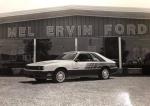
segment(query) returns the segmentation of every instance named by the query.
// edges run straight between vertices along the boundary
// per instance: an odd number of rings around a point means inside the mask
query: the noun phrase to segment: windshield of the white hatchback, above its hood
[[[56,60],[73,60],[76,56],[76,53],[64,53],[56,57]]]

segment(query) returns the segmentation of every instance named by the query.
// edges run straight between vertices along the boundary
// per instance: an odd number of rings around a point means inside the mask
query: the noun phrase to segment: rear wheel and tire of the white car
[[[101,71],[98,74],[99,79],[109,79],[110,77],[110,73],[109,73],[109,69],[108,68],[102,68]]]

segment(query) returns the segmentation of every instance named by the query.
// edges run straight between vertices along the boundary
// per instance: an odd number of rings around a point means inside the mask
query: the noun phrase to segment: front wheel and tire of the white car
[[[65,81],[66,79],[66,72],[64,69],[58,69],[55,71],[53,77],[52,77],[53,81],[55,83],[62,83]]]

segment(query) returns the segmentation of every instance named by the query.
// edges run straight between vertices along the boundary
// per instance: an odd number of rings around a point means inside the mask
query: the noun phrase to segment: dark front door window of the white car
[[[89,53],[82,53],[79,54],[79,56],[77,57],[78,61],[93,61],[92,56]]]

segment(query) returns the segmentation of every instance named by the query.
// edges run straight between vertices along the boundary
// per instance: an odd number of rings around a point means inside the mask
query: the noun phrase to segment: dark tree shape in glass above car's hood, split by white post
[[[33,39],[24,40],[25,53],[33,57]],[[48,60],[48,51],[52,47],[51,39],[37,39],[36,41],[36,60],[43,61]]]

